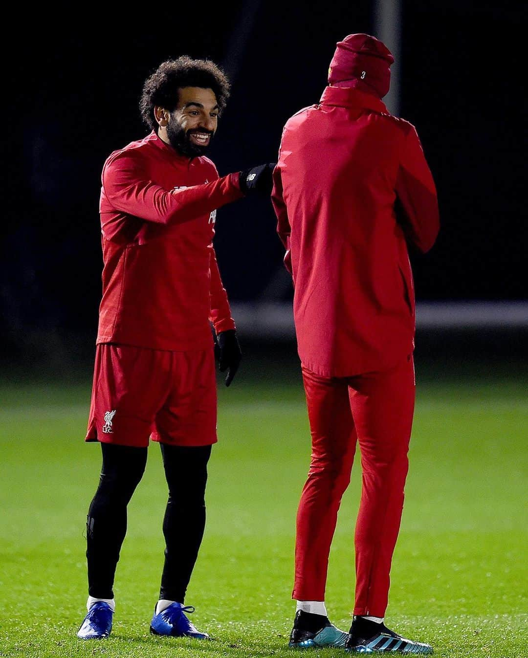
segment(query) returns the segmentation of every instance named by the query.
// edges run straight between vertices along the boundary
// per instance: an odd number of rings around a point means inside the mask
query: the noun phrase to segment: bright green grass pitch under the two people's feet
[[[528,655],[528,401],[521,380],[421,384],[386,620],[438,657]],[[294,519],[309,460],[300,378],[220,389],[207,528],[186,603],[216,642],[156,638],[166,487],[157,445],[129,509],[117,613],[103,642],[85,612],[84,523],[99,448],[82,442],[88,386],[0,388],[0,656],[292,656]],[[330,554],[327,606],[350,624],[359,464]],[[185,498],[185,492],[182,492]],[[182,528],[182,541],[184,541]],[[342,656],[338,649],[317,655]]]

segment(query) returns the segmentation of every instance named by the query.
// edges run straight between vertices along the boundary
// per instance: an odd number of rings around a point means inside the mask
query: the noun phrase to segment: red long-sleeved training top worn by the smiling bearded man
[[[213,235],[216,209],[242,197],[238,174],[219,178],[154,132],[115,151],[101,190],[103,299],[97,343],[184,351],[234,328]]]

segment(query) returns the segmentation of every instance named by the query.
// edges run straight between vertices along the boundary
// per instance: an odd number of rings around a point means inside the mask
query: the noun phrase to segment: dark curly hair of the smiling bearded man
[[[229,97],[230,84],[223,70],[209,59],[191,59],[187,55],[168,59],[145,80],[143,86],[140,112],[148,128],[157,132],[159,126],[154,107],[174,111],[178,105],[178,89],[182,87],[213,89],[222,111]]]

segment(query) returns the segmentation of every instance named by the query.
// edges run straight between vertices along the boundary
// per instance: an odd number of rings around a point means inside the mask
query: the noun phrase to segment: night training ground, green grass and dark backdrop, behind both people
[[[384,103],[416,126],[440,204],[435,246],[410,254],[417,405],[386,623],[432,644],[435,658],[528,658],[521,3],[195,5],[117,13],[83,5],[81,20],[48,5],[9,5],[17,48],[3,75],[0,658],[297,658],[287,643],[310,438],[292,281],[272,204],[256,197],[220,207],[215,223],[244,359],[229,390],[219,378],[207,526],[185,603],[216,641],[149,634],[167,499],[157,445],[129,507],[113,632],[102,642],[76,638],[86,613],[86,513],[101,465],[99,446],[83,441],[101,301],[97,200],[109,153],[145,134],[138,100],[163,61],[205,57],[225,70],[232,94],[208,153],[223,176],[276,161],[286,120],[318,103],[348,34],[376,36],[394,55]],[[321,159],[317,170],[330,164]],[[344,211],[354,221],[355,205]],[[326,596],[344,630],[360,487],[357,455]]]

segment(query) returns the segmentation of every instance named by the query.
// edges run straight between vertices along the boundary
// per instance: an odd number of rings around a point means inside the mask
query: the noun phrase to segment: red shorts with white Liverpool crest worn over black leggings
[[[86,441],[146,447],[217,442],[215,355],[103,343],[95,351]]]

